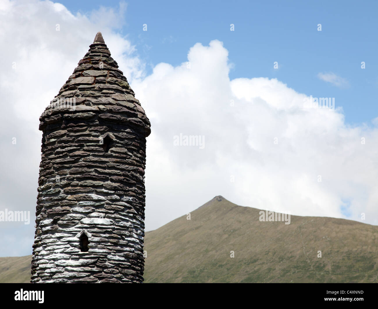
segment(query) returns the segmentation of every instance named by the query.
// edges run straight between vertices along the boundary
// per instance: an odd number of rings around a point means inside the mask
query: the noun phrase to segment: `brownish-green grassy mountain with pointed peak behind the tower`
[[[190,220],[146,232],[145,282],[378,283],[378,226],[293,215],[290,224],[259,221],[260,211],[215,196]],[[30,262],[0,258],[0,283],[29,282]]]

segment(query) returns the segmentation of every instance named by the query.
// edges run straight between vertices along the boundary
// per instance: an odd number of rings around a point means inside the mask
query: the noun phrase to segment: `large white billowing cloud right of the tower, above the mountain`
[[[310,98],[277,79],[229,80],[217,40],[197,43],[187,60],[160,63],[132,84],[152,122],[147,228],[215,195],[302,216],[360,220],[364,212],[364,222],[378,223],[376,129],[350,127],[341,108],[304,108]],[[204,136],[205,147],[175,146],[180,133]]]

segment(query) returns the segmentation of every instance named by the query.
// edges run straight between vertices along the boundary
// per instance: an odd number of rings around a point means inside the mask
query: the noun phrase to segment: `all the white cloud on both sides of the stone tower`
[[[363,222],[378,224],[377,127],[350,127],[342,110],[304,108],[306,94],[277,79],[230,80],[232,64],[218,40],[197,43],[181,65],[159,63],[146,76],[138,51],[111,26],[115,15],[123,18],[124,6],[121,15],[101,8],[100,24],[96,11],[73,15],[52,2],[0,3],[0,41],[6,46],[0,49],[0,209],[35,212],[38,118],[101,30],[152,123],[146,230],[215,195],[295,215],[359,221],[364,212]],[[204,137],[204,147],[175,145],[177,136]],[[3,223],[1,255],[30,254],[33,224]],[[25,241],[14,250],[17,239]]]

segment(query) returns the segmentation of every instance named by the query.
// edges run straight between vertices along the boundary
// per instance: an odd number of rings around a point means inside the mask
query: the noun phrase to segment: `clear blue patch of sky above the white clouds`
[[[61,3],[74,14],[104,5]],[[118,1],[106,6],[120,8]],[[234,64],[230,79],[277,78],[308,96],[335,97],[347,124],[369,124],[377,116],[376,12],[376,1],[131,1],[119,32],[136,46],[147,73],[160,62],[185,62],[195,43],[218,39]],[[231,23],[235,31],[230,31]],[[317,31],[319,23],[322,31]],[[318,73],[330,72],[345,85],[319,79]]]

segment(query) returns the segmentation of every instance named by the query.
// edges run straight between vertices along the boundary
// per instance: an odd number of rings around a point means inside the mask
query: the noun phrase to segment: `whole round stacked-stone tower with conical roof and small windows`
[[[32,283],[143,282],[150,122],[134,95],[99,32],[41,115]]]

